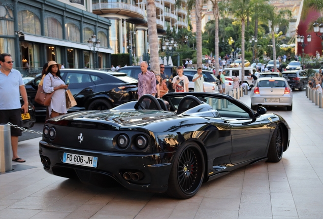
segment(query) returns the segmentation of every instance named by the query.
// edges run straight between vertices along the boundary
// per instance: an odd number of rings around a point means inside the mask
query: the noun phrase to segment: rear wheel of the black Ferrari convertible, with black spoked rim
[[[204,178],[204,156],[196,142],[184,143],[175,155],[166,194],[188,199],[201,188]]]

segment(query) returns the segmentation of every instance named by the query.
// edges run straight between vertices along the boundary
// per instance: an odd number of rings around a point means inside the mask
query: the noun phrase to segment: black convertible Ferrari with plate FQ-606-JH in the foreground
[[[261,160],[279,162],[290,128],[228,95],[144,95],[106,111],[47,120],[39,154],[54,175],[190,198],[202,182]],[[169,103],[169,106],[167,105]]]

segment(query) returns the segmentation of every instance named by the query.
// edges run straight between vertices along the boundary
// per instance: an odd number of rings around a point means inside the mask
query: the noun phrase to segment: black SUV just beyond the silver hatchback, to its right
[[[288,85],[294,91],[298,88],[299,91],[304,90],[308,83],[308,77],[304,70],[286,70],[282,72],[283,77],[287,80]]]

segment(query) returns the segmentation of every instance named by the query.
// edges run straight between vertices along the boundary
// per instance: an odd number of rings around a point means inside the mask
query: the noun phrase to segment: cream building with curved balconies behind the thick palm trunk
[[[186,1],[179,8],[175,2],[155,1],[159,37],[168,27],[187,28]],[[113,53],[131,53],[136,57],[149,53],[146,0],[92,0],[92,10],[111,22],[109,44]]]

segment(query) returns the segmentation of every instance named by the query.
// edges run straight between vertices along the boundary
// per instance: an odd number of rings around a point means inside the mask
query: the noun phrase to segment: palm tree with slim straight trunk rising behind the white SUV
[[[241,80],[244,81],[244,31],[245,21],[250,9],[250,0],[231,0],[227,7],[231,14],[241,20]]]

